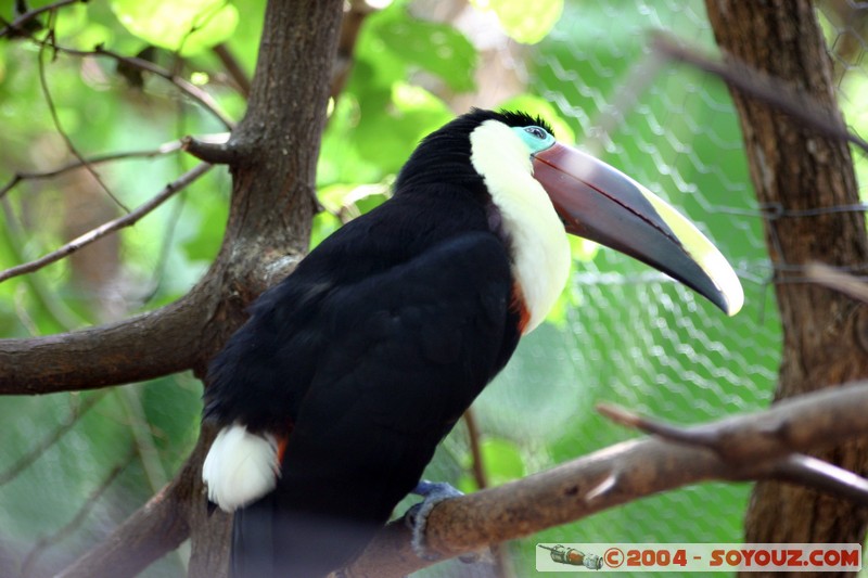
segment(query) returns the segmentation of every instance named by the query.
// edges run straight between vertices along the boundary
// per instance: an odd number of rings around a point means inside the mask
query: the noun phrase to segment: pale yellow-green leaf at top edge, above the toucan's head
[[[471,0],[477,10],[492,11],[503,31],[523,44],[535,44],[554,27],[563,12],[563,0],[537,0],[533,8],[524,0]]]

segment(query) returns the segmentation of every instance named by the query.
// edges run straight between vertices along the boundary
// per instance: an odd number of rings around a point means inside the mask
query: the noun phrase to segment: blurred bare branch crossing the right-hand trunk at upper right
[[[868,142],[848,131],[846,126],[838,121],[814,99],[799,93],[779,79],[761,74],[755,68],[736,61],[735,57],[730,57],[730,62],[724,63],[712,56],[703,55],[700,49],[681,46],[662,33],[652,36],[651,46],[655,51],[673,61],[689,64],[717,76],[727,85],[745,94],[774,105],[776,110],[802,120],[820,134],[850,142],[868,152]]]

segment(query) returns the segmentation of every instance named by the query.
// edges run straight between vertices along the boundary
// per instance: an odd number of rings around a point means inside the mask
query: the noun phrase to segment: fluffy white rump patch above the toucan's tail
[[[202,464],[208,500],[234,512],[275,489],[280,468],[273,436],[251,434],[241,424],[220,429]]]

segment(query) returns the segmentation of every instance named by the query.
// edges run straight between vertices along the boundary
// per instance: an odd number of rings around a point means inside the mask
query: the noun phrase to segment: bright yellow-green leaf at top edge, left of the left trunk
[[[239,21],[225,0],[112,0],[111,5],[131,34],[184,56],[229,39]]]

